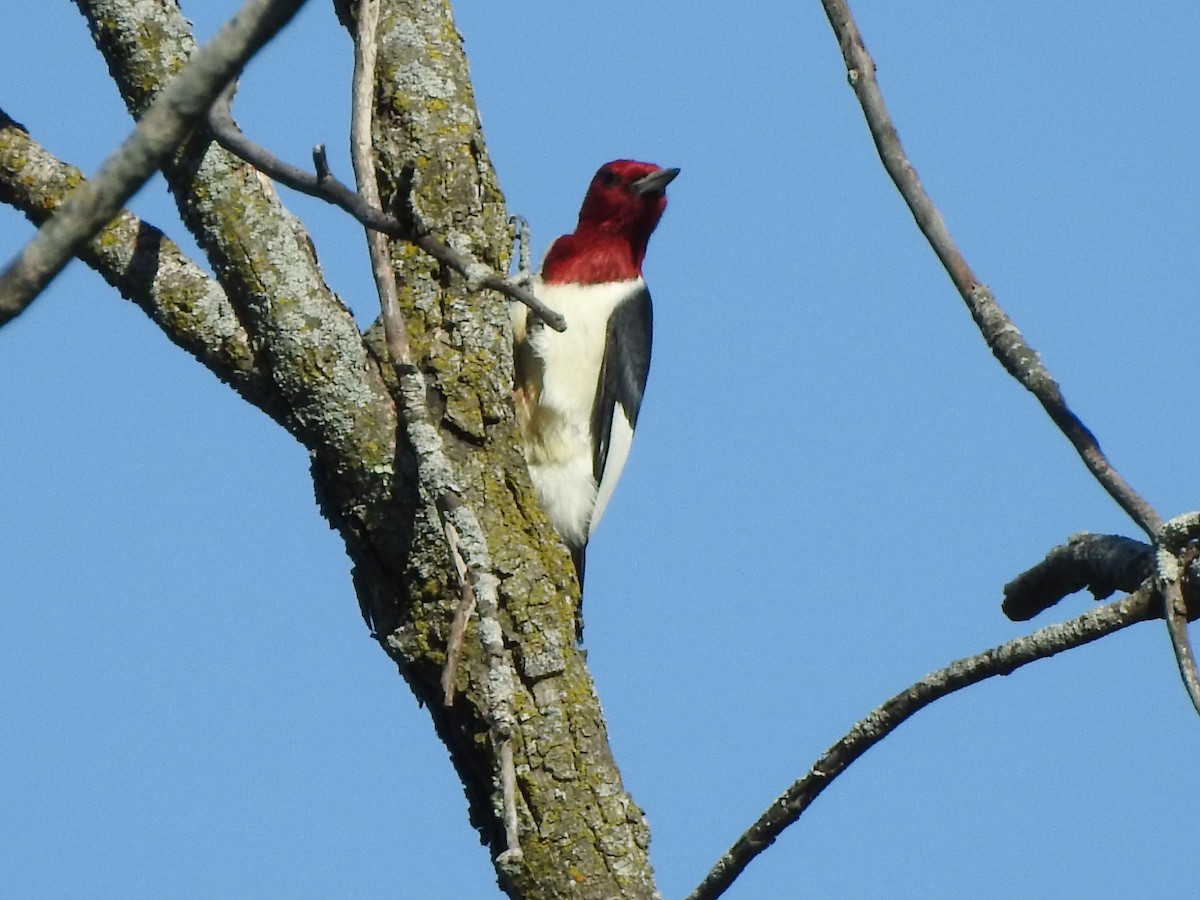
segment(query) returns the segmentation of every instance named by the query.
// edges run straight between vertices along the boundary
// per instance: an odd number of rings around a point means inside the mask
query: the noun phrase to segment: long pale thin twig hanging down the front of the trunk
[[[374,155],[371,140],[371,116],[374,108],[376,31],[379,24],[378,0],[360,0],[358,34],[354,53],[354,98],[350,119],[350,155],[354,176],[362,200],[379,206],[376,182]],[[324,168],[324,155],[316,160],[318,170]],[[515,677],[509,654],[504,648],[504,632],[499,624],[497,578],[492,575],[491,554],[484,530],[454,487],[450,460],[442,445],[442,437],[431,422],[425,403],[425,377],[412,358],[408,326],[400,312],[395,269],[386,236],[367,227],[371,269],[379,292],[388,353],[400,384],[400,413],[403,416],[409,443],[416,451],[419,481],[427,499],[442,520],[446,548],[458,578],[460,614],[455,616],[448,642],[446,662],[442,684],[444,702],[454,700],[454,683],[467,619],[470,608],[479,611],[479,635],[487,662],[487,679],[481,686],[484,714],[488,720],[497,749],[497,781],[499,784],[505,850],[498,862],[510,864],[521,859],[517,828],[516,768],[512,758],[512,733],[516,727]]]

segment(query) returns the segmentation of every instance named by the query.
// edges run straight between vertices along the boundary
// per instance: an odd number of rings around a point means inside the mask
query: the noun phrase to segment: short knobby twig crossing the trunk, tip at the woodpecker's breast
[[[396,216],[384,212],[378,199],[368,200],[361,190],[355,192],[338,181],[323,162],[318,163],[317,174],[313,174],[284,162],[266,148],[256,144],[234,122],[229,102],[230,94],[227,91],[212,104],[211,110],[209,110],[209,128],[212,132],[212,138],[230,154],[293,191],[316,197],[346,210],[374,232],[420,247],[442,265],[467,278],[472,290],[482,288],[497,290],[528,306],[538,318],[556,331],[566,330],[566,319],[541,302],[532,290],[505,278],[478,259],[472,259],[468,254],[439,241],[415,215],[412,222],[403,222]],[[323,157],[320,150],[317,152]]]

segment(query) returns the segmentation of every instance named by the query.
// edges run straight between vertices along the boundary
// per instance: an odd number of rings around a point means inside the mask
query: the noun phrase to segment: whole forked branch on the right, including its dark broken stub
[[[1081,647],[1135,622],[1165,616],[1180,672],[1200,712],[1200,678],[1196,676],[1195,659],[1188,642],[1189,613],[1181,583],[1184,569],[1196,557],[1193,541],[1200,536],[1200,515],[1183,516],[1164,526],[1158,512],[1124,481],[1104,456],[1094,436],[1067,406],[1062,391],[1037,353],[1025,342],[986,286],[976,277],[950,238],[941,212],[929,198],[900,145],[875,79],[875,64],[866,52],[848,5],[845,0],[821,1],[841,47],[850,84],[863,108],[880,158],[912,211],[918,228],[949,274],[996,359],[1038,398],[1093,476],[1156,541],[1156,572],[1153,578],[1147,578],[1122,600],[953,662],[888,700],[854,725],[817,760],[804,778],[772,803],[688,900],[713,900],[724,894],[746,865],[770,846],[787,826],[796,822],[838,775],[918,710],[962,688],[992,676],[1009,674],[1034,660]],[[1060,548],[1061,552],[1052,553],[1036,570],[1022,576],[1022,583],[1012,583],[1009,588],[1016,584],[1014,608],[1019,617],[1032,616],[1038,611],[1034,607],[1042,605],[1044,608],[1058,595],[1086,586],[1099,593],[1110,593],[1114,587],[1127,584],[1133,572],[1144,571],[1148,551],[1145,545],[1129,541],[1115,546],[1111,541],[1105,542],[1108,539],[1098,540],[1103,547],[1075,542],[1075,546]],[[1088,553],[1097,550],[1116,551],[1116,556],[1121,558],[1106,559],[1096,566],[1093,564],[1097,560],[1088,558]]]

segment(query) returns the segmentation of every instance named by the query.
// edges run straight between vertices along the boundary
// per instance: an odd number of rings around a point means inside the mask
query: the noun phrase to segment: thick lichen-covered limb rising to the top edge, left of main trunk
[[[76,4],[126,106],[143,115],[196,52],[190,24],[173,0]],[[346,476],[359,509],[364,498],[394,497],[395,408],[353,317],[324,283],[304,227],[266,179],[200,133],[163,174],[260,348],[289,431],[314,463]]]

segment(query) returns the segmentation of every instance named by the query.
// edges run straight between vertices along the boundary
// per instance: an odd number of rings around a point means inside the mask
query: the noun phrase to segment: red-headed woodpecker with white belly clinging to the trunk
[[[559,334],[514,306],[517,418],[534,487],[571,550],[583,551],[620,476],[650,368],[642,260],[679,169],[616,160],[596,172],[574,234],[546,252],[533,293],[566,318]]]

